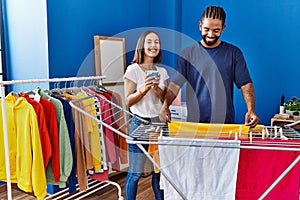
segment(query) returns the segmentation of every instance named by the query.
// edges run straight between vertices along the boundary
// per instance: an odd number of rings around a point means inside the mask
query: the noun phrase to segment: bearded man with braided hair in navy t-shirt
[[[202,14],[199,29],[202,40],[185,48],[178,57],[175,73],[159,113],[162,121],[171,120],[169,105],[179,89],[186,85],[190,122],[234,123],[234,84],[241,89],[248,112],[245,125],[257,125],[255,93],[241,50],[219,37],[226,24],[223,8],[209,6]]]

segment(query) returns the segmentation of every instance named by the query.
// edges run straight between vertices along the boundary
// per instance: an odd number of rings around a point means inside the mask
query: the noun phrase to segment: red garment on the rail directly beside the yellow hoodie
[[[21,93],[20,96],[23,96],[27,100],[27,102],[33,106],[35,113],[37,115],[40,139],[41,139],[41,145],[42,145],[42,151],[43,151],[44,168],[46,171],[48,163],[49,163],[49,159],[52,155],[52,147],[51,147],[50,136],[49,136],[49,132],[48,132],[48,128],[47,128],[44,108],[43,108],[42,104],[31,99],[28,94]]]

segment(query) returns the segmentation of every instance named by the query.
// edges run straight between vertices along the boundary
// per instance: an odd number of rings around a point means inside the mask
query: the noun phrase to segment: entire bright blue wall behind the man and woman
[[[198,21],[203,9],[212,4],[227,12],[221,39],[244,52],[256,90],[256,110],[261,123],[268,125],[279,112],[281,94],[286,99],[300,96],[299,0],[47,1],[49,77],[93,74],[94,35],[125,35],[128,64],[139,34],[129,37],[126,33],[140,33],[141,27],[166,29],[163,64],[173,67],[177,52],[200,40]],[[236,121],[242,123],[246,107],[238,90],[235,106]]]

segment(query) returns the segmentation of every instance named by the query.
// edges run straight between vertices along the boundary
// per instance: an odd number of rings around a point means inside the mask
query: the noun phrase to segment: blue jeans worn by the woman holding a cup
[[[145,118],[143,118],[145,119]],[[151,120],[146,118],[146,120]],[[129,135],[140,125],[142,121],[134,117],[131,121]],[[148,150],[149,145],[143,145]],[[125,182],[125,197],[126,200],[135,200],[138,188],[138,182],[144,172],[144,165],[146,162],[146,155],[136,144],[128,144],[129,151],[129,169]],[[154,191],[155,199],[164,199],[163,190],[159,188],[160,173],[152,172],[152,188]]]

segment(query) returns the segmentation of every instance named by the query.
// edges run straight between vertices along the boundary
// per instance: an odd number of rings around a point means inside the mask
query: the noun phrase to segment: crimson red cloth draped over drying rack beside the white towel
[[[268,140],[267,142],[284,144],[290,143],[291,140]],[[295,142],[299,143],[299,140]],[[300,156],[299,151],[241,149],[236,200],[259,199],[298,156]],[[265,200],[299,200],[299,181],[300,163],[274,187]]]

